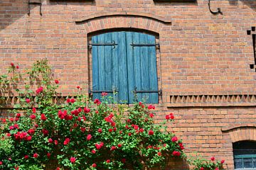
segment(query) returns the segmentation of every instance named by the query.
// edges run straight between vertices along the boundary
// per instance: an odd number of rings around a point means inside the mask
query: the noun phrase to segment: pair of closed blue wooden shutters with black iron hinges
[[[158,103],[156,39],[132,31],[92,36],[92,95],[115,101]]]

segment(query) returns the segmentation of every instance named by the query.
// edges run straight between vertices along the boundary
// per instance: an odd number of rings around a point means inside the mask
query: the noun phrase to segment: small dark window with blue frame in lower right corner
[[[256,169],[256,142],[233,143],[235,169]]]

